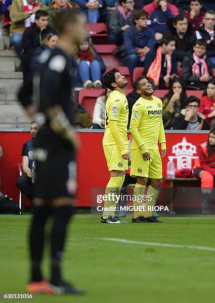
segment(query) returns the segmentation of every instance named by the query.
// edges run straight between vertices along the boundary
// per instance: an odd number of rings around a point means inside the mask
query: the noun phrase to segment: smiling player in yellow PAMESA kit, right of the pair
[[[142,203],[133,199],[134,213],[133,223],[159,223],[152,216],[152,206],[155,205],[162,185],[161,158],[166,155],[166,139],[162,121],[162,101],[152,96],[152,85],[147,78],[140,77],[134,83],[134,89],[140,98],[132,107],[130,132],[133,136],[131,143],[131,167],[130,175],[137,178],[134,195],[143,196],[145,186],[150,178],[151,184],[147,192],[147,200],[144,211]],[[161,144],[161,155],[158,149],[158,141]],[[137,207],[141,206],[141,207]]]

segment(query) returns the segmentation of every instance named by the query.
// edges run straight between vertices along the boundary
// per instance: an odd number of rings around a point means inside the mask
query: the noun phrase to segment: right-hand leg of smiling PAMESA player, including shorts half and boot
[[[151,162],[149,166],[150,186],[147,191],[146,210],[144,217],[149,222],[159,223],[157,218],[152,216],[152,210],[155,206],[160,189],[162,186],[162,162],[159,150],[150,150]]]

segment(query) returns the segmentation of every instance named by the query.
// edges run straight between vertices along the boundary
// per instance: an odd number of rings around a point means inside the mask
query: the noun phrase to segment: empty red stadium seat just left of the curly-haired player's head
[[[82,89],[79,91],[79,103],[82,104],[86,111],[92,117],[96,99],[104,93],[104,89]]]

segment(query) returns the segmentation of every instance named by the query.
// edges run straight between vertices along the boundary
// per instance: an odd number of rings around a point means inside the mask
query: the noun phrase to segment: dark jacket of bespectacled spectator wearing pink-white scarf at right
[[[192,82],[199,82],[199,77],[193,76],[192,74],[192,66],[194,64],[193,55],[186,55],[182,61],[182,78],[186,82],[186,84],[190,84]],[[213,63],[209,58],[206,57],[206,64],[208,66],[208,72],[210,77],[213,77]]]

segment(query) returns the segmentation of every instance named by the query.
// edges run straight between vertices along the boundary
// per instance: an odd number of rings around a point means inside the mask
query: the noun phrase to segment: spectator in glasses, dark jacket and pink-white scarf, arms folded
[[[183,59],[182,78],[188,89],[204,90],[213,77],[213,64],[206,56],[206,47],[204,40],[196,40],[193,54]]]

